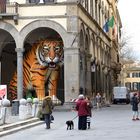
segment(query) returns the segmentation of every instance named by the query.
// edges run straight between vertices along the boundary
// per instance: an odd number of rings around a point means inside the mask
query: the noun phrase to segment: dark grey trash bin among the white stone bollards
[[[12,115],[18,115],[19,114],[19,101],[13,100],[12,101]]]

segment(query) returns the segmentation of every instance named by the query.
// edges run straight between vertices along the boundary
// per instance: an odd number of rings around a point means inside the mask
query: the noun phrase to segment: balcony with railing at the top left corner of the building
[[[0,3],[0,20],[13,19],[15,24],[18,24],[18,3]]]

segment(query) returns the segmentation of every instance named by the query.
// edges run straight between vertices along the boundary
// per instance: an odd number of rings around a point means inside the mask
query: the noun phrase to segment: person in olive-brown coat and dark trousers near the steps
[[[53,103],[52,103],[51,96],[46,96],[43,99],[43,103],[42,103],[42,114],[44,115],[46,129],[50,129],[52,109],[53,109]]]

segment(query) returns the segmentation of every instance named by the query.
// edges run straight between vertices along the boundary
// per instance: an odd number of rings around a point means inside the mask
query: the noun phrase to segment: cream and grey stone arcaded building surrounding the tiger
[[[113,17],[113,26],[104,25]],[[116,0],[2,0],[0,3],[1,84],[17,67],[17,95],[23,97],[23,57],[37,40],[59,36],[64,44],[58,96],[97,92],[110,100],[121,70],[121,20]]]

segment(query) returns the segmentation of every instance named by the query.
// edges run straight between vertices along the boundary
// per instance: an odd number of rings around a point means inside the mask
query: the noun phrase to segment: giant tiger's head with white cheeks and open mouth
[[[55,68],[63,59],[63,42],[57,40],[41,41],[36,55],[41,65]]]

